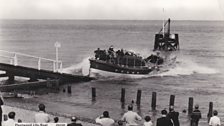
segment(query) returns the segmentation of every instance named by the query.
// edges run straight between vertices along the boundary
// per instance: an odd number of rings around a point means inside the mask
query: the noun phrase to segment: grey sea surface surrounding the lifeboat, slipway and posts
[[[98,47],[107,49],[114,45],[149,55],[154,34],[161,29],[162,21],[2,20],[0,23],[1,50],[55,59],[54,43],[58,41],[62,45],[59,56],[63,71],[81,74]],[[142,79],[105,77],[72,84],[71,95],[45,94],[41,98],[8,100],[8,104],[36,109],[37,103],[43,102],[48,111],[90,119],[109,110],[112,118],[119,119],[125,111],[119,101],[121,88],[126,89],[126,104],[135,100],[137,90],[141,89],[142,103],[138,112],[142,116],[152,115],[149,110],[151,94],[155,91],[159,111],[168,108],[172,94],[176,95],[175,108],[180,112],[187,109],[188,98],[194,97],[203,113],[201,125],[206,124],[210,101],[214,102],[214,109],[219,111],[224,123],[224,22],[171,21],[171,31],[179,34],[181,50],[177,52],[175,67],[167,72]],[[8,62],[3,58],[0,61]],[[19,64],[36,67],[34,60],[19,60]],[[48,65],[46,69],[50,69]],[[91,87],[97,89],[94,103]],[[183,113],[180,116],[181,123],[187,125],[187,116]]]

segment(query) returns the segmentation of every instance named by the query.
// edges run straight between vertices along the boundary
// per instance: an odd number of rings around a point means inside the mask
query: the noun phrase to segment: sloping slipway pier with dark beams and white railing
[[[90,81],[93,78],[88,76],[81,76],[81,75],[72,75],[68,73],[62,73],[62,61],[47,59],[37,56],[32,56],[23,53],[17,52],[9,52],[0,50],[0,58],[6,59],[8,63],[0,62],[0,71],[4,71],[4,73],[0,74],[0,77],[8,77],[8,85],[0,86],[0,90],[7,90],[19,88],[19,87],[27,87],[27,86],[43,86],[43,80],[57,80],[58,85],[64,83],[73,83],[73,82],[85,82]],[[4,55],[2,55],[4,54]],[[18,57],[26,57],[32,59],[32,61],[37,62],[36,68],[27,67],[23,64],[18,63]],[[21,60],[21,59],[20,59]],[[26,61],[25,61],[26,62]],[[43,69],[43,62],[51,63],[52,70]],[[15,76],[19,77],[26,77],[29,78],[29,82],[26,84],[14,84],[15,83]],[[42,80],[41,82],[39,80]],[[35,83],[34,83],[35,82]],[[13,85],[12,85],[13,84]],[[28,85],[27,85],[28,84]],[[47,85],[47,82],[44,84]]]

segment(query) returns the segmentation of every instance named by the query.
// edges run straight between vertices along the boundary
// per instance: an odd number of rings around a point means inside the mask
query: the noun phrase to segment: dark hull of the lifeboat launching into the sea
[[[145,75],[152,72],[152,68],[148,67],[127,67],[123,65],[112,64],[106,61],[89,59],[90,68],[121,74]]]

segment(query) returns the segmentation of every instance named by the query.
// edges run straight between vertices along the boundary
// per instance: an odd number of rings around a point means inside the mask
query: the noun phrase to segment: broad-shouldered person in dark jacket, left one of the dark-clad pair
[[[173,126],[171,119],[167,117],[167,111],[164,109],[161,111],[162,117],[157,119],[156,126]]]

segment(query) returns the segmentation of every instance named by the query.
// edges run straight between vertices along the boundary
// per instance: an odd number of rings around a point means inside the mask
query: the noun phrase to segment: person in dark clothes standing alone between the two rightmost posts
[[[201,111],[199,105],[194,106],[194,111],[191,114],[191,126],[198,126],[198,122],[201,119]]]

